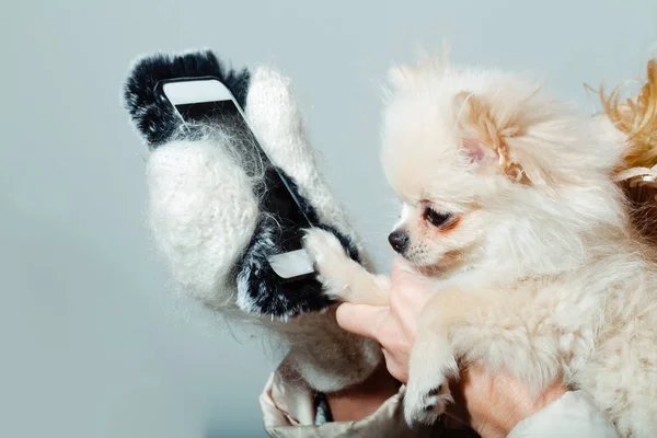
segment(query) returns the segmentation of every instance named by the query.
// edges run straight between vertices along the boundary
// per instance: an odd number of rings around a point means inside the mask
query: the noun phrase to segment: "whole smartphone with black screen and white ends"
[[[157,90],[166,97],[184,122],[219,124],[247,137],[245,145],[257,149],[254,152],[266,169],[264,209],[283,222],[284,252],[269,256],[269,265],[285,280],[306,278],[313,274],[312,261],[301,243],[302,230],[312,227],[312,223],[290,188],[290,182],[273,165],[257,141],[256,132],[249,126],[243,110],[230,90],[214,77],[166,80],[158,83]]]

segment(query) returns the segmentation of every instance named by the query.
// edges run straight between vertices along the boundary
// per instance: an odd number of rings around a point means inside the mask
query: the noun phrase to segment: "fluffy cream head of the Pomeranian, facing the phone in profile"
[[[608,120],[522,74],[424,60],[389,78],[382,164],[403,201],[390,242],[417,267],[555,273],[598,233],[624,232],[610,178],[622,136]]]

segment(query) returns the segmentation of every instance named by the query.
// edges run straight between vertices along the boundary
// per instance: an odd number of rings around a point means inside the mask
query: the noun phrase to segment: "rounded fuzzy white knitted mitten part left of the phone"
[[[243,169],[214,142],[176,140],[151,152],[147,182],[151,232],[174,279],[206,304],[235,308],[230,273],[258,220]]]

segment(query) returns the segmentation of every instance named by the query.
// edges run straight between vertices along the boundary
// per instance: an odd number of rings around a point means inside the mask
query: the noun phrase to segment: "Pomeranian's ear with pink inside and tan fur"
[[[496,117],[491,104],[468,91],[454,96],[453,106],[461,146],[472,162],[485,170],[495,166],[498,172],[522,184],[542,180],[543,175],[538,170],[532,172],[532,178],[519,153],[509,147],[509,140],[521,134],[521,127],[512,117],[502,120]]]

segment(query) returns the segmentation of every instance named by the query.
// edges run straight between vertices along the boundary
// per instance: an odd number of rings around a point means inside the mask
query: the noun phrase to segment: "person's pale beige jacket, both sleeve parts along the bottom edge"
[[[411,430],[403,415],[404,387],[388,399],[377,412],[358,422],[334,422],[314,425],[313,391],[298,376],[284,374],[281,368],[269,377],[260,403],[265,430],[275,438],[472,438],[471,429],[453,420],[433,428]],[[520,422],[508,438],[618,437],[615,428],[604,419],[592,399],[581,391],[567,392],[560,400]]]

